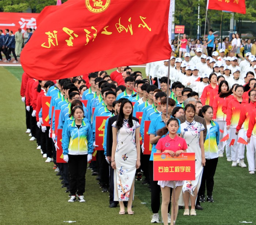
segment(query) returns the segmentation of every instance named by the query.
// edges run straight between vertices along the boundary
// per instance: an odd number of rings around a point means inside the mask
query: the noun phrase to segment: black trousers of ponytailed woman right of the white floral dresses
[[[207,195],[208,196],[212,195],[212,191],[214,187],[214,174],[218,164],[218,159],[219,158],[206,160],[198,195],[205,195],[205,183],[206,183]]]

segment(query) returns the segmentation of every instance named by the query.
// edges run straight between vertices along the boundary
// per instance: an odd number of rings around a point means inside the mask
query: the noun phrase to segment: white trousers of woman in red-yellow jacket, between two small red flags
[[[238,135],[235,135],[236,128],[230,127],[229,128],[229,139],[230,142],[232,139],[235,140],[234,145],[231,145],[231,159],[233,162],[236,162],[237,159],[241,160],[244,159],[244,149],[245,145],[237,143],[238,138],[244,138],[244,128],[241,128],[238,132]],[[229,142],[229,143],[230,143]]]

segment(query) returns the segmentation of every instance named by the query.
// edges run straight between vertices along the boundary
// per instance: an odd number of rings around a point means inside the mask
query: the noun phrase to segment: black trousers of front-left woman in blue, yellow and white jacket
[[[85,192],[85,173],[87,155],[68,155],[68,170],[70,174],[70,194],[83,195]]]

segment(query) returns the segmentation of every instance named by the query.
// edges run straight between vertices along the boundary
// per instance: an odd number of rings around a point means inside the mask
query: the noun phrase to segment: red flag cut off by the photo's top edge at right
[[[246,14],[245,0],[208,0],[207,9]]]

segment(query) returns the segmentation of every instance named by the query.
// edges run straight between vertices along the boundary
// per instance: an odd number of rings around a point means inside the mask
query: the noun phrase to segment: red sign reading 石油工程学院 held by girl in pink
[[[195,180],[195,153],[181,153],[171,157],[169,153],[154,153],[153,180]]]

